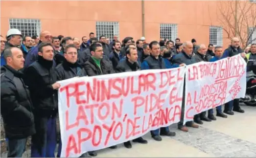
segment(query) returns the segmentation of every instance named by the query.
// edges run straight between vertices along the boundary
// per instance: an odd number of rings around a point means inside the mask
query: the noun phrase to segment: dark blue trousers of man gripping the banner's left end
[[[32,136],[31,158],[55,158],[56,116],[37,118],[35,115],[35,124],[37,133]]]

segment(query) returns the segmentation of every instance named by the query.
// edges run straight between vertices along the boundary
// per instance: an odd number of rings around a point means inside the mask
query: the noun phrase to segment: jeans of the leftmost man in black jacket
[[[8,158],[21,158],[26,147],[27,138],[8,139]]]

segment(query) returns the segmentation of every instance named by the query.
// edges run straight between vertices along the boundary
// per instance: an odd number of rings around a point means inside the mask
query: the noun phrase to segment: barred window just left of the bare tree
[[[219,26],[210,26],[210,44],[223,45],[223,29]]]

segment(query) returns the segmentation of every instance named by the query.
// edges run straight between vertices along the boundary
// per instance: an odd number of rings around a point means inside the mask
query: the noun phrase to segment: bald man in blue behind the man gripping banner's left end
[[[37,60],[38,46],[40,45],[40,43],[51,43],[51,39],[52,39],[52,36],[49,31],[42,31],[40,33],[40,41],[38,45],[30,49],[26,55],[25,68],[27,68],[30,64],[32,64]]]

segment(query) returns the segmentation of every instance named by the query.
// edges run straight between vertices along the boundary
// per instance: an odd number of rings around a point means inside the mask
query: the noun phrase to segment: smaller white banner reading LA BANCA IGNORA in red
[[[245,96],[246,62],[241,55],[186,67],[184,123],[195,114]]]

